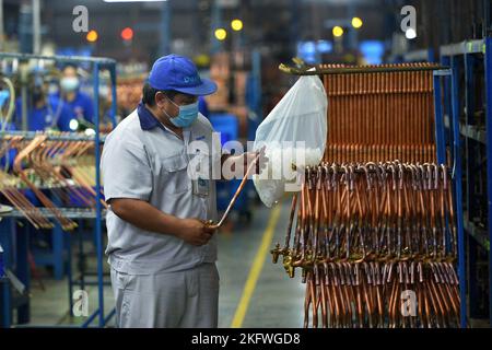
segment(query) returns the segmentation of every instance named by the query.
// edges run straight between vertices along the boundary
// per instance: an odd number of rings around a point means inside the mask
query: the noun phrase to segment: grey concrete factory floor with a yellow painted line
[[[270,249],[283,242],[290,206],[285,201],[278,209],[255,208],[249,225],[237,224],[231,232],[219,233],[219,271],[221,277],[220,327],[302,327],[304,285],[300,277],[290,279],[281,261],[271,262]],[[84,245],[86,266],[95,271],[94,245]],[[74,249],[75,250],[75,249]],[[75,253],[74,253],[75,254]],[[73,258],[73,273],[77,258]],[[31,324],[27,326],[80,325],[86,317],[70,317],[67,279],[56,281],[40,269],[45,290],[32,281]],[[105,272],[108,266],[105,264]],[[87,280],[95,280],[87,277]],[[107,280],[109,278],[107,277]],[[77,287],[75,287],[77,289]],[[87,285],[89,314],[97,307],[97,287]],[[105,287],[105,314],[114,305],[113,292]],[[95,319],[94,325],[96,325]],[[114,319],[108,323],[113,327]]]

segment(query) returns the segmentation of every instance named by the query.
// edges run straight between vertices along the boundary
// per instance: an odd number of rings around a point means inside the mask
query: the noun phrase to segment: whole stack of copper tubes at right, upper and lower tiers
[[[281,257],[291,278],[301,269],[305,327],[459,327],[453,186],[435,164],[432,70],[339,68],[316,69],[329,70],[327,147],[292,199],[273,262]]]

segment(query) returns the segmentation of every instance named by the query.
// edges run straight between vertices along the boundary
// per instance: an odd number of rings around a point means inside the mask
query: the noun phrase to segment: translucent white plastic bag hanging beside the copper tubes
[[[298,190],[295,172],[317,165],[327,136],[328,100],[317,75],[301,77],[256,130],[255,150],[266,147],[266,171],[253,182],[261,201],[271,207],[284,191]]]

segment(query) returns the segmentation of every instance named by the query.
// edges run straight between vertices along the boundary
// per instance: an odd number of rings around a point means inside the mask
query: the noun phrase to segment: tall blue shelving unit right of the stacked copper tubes
[[[467,240],[467,258],[468,258],[468,295],[462,298],[461,305],[469,306],[467,315],[472,318],[477,311],[477,260],[476,245],[480,245],[489,253],[489,290],[492,285],[492,259],[490,256],[490,240],[492,237],[492,38],[488,37],[480,40],[462,42],[441,47],[441,62],[449,66],[453,70],[453,78],[446,82],[445,89],[449,91],[450,100],[447,105],[447,125],[455,130],[453,142],[459,145],[460,139],[464,140],[464,149],[455,147],[454,160],[456,178],[455,186],[461,190],[466,186],[466,196],[464,203],[466,207],[464,215],[464,228],[472,240]],[[479,73],[477,73],[477,71]],[[464,84],[459,84],[459,77],[464,75]],[[480,74],[480,75],[479,75]],[[481,75],[483,74],[483,75]],[[483,94],[477,92],[477,81],[483,78]],[[464,96],[461,101],[460,96]],[[480,125],[478,120],[477,108],[479,100],[482,98],[482,106],[484,109],[484,124]],[[449,108],[450,107],[450,108]],[[464,120],[460,120],[464,114]],[[461,118],[462,119],[462,118]],[[483,120],[482,120],[483,121]],[[480,154],[480,149],[485,149],[485,154],[477,159]],[[465,158],[462,159],[464,153]],[[466,174],[466,182],[464,184],[461,176],[458,176],[458,171],[461,171],[461,161],[464,161],[464,170]],[[475,201],[476,186],[479,180],[478,171],[485,167],[485,183],[487,192],[487,223],[480,222],[477,215],[479,208]],[[457,198],[457,202],[458,198]],[[481,217],[484,218],[484,217]],[[481,219],[483,220],[483,219]],[[462,247],[465,249],[465,247]],[[464,271],[465,272],[465,271]],[[492,295],[489,292],[489,320],[492,325]]]

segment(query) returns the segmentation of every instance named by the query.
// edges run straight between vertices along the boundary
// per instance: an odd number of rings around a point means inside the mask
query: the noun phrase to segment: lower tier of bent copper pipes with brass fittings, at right
[[[282,256],[290,277],[302,269],[306,327],[459,325],[445,165],[321,163],[306,170],[290,219],[273,261]],[[414,314],[402,314],[403,292],[415,296]]]

